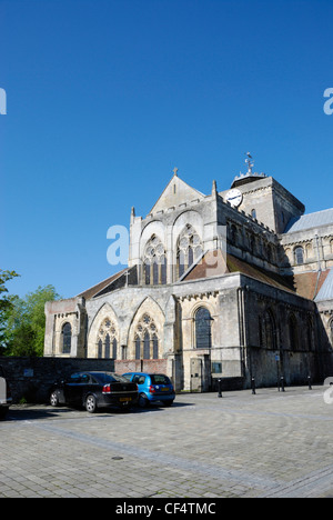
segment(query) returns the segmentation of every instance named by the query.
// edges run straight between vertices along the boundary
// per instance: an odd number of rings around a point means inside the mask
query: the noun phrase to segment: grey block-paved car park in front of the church
[[[0,498],[333,497],[324,387],[181,394],[134,412],[14,406]]]

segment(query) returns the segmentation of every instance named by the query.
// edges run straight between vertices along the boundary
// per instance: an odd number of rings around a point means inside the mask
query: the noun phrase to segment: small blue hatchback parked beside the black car
[[[139,407],[145,408],[151,402],[162,402],[171,407],[175,399],[172,382],[162,373],[128,372],[123,378],[137,383],[139,388]]]

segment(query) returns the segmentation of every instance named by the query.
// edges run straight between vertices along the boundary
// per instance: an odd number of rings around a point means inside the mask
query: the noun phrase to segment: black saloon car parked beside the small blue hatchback
[[[54,383],[50,392],[52,407],[83,406],[90,413],[108,407],[130,409],[138,398],[138,386],[113,372],[77,372]]]

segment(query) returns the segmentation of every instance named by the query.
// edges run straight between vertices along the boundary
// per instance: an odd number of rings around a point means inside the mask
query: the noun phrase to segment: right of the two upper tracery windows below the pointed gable
[[[176,274],[181,278],[202,254],[202,242],[195,229],[188,224],[179,237],[176,247]]]

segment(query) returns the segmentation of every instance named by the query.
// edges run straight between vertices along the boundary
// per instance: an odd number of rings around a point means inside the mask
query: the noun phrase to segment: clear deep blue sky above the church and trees
[[[179,168],[209,193],[245,170],[331,208],[332,0],[0,0],[1,260],[20,296],[122,267],[112,224]]]

